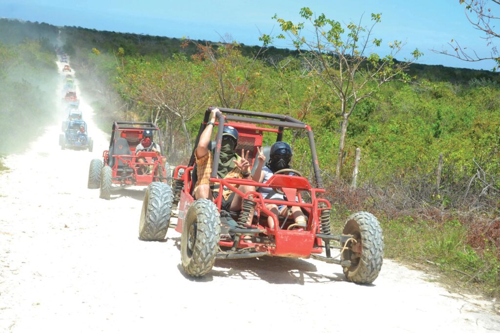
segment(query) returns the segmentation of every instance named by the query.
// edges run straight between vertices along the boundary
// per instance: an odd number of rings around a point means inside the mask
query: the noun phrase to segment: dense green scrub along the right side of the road
[[[357,106],[336,180],[338,105],[322,82],[304,75],[296,52],[77,27],[61,28],[61,35],[102,121],[156,121],[172,163],[185,162],[208,105],[302,119],[314,129],[336,230],[350,211],[373,211],[388,257],[429,260],[500,293],[498,73],[412,65],[414,83],[388,82]],[[307,174],[303,133],[285,139],[294,167]],[[360,186],[352,189],[356,147]]]

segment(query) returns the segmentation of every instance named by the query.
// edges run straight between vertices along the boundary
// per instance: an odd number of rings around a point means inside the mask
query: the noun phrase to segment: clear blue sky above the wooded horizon
[[[430,50],[455,39],[479,55],[489,54],[483,34],[471,27],[458,0],[0,0],[0,17],[214,41],[229,33],[251,45],[259,44],[259,31],[279,32],[271,16],[276,13],[297,22],[303,6],[341,22],[358,21],[364,15],[369,24],[371,12],[382,13],[373,36],[382,38],[383,45],[394,39],[406,41],[398,58],[417,47],[424,53],[420,63],[488,70],[494,66],[492,61],[464,62]],[[380,55],[384,51],[381,48]]]

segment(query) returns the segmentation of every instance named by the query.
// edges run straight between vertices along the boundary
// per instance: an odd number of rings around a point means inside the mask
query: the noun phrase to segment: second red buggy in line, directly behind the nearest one
[[[156,133],[154,142],[159,146],[159,152],[150,148],[135,151],[145,129]],[[103,159],[90,162],[87,187],[99,188],[99,197],[109,200],[113,188],[144,186],[166,180],[168,167],[165,169],[161,164],[162,161],[166,164],[161,142],[159,128],[153,123],[113,122],[109,150],[102,153]]]

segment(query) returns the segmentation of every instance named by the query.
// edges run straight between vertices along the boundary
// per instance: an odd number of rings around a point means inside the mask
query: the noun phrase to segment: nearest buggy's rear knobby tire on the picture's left
[[[139,238],[143,241],[162,241],[165,238],[172,209],[172,189],[165,183],[149,184],[142,201]]]

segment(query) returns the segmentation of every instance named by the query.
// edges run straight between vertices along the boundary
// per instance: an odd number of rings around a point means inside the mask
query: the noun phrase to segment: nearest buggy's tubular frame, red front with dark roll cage
[[[200,125],[198,136],[196,138],[195,147],[198,144],[199,137],[204,130],[208,116],[211,108],[208,108],[205,112],[203,122]],[[278,115],[271,113],[263,113],[263,112],[252,112],[245,110],[235,110],[235,109],[226,109],[219,108],[221,112],[216,113],[215,122],[217,128],[216,135],[216,146],[215,152],[213,154],[212,161],[212,170],[211,177],[209,179],[210,183],[219,183],[219,193],[216,199],[213,200],[214,204],[217,206],[217,209],[220,211],[222,205],[222,192],[223,189],[229,189],[235,194],[239,195],[243,199],[249,199],[251,196],[252,200],[257,203],[255,211],[257,212],[257,219],[260,218],[260,213],[263,212],[267,216],[271,216],[274,222],[274,227],[272,229],[268,227],[263,227],[256,223],[256,228],[261,229],[261,233],[265,235],[274,236],[275,244],[259,244],[259,243],[245,243],[241,242],[238,244],[238,248],[252,247],[254,246],[256,251],[265,251],[268,255],[272,256],[285,256],[285,257],[302,257],[308,258],[311,254],[320,254],[322,253],[321,247],[321,239],[316,238],[316,233],[320,231],[320,221],[319,216],[320,212],[324,209],[331,208],[331,205],[325,199],[319,199],[316,197],[316,193],[324,193],[325,190],[322,188],[322,179],[319,173],[319,166],[316,156],[316,148],[313,139],[313,133],[311,128],[305,123],[293,119],[286,115]],[[227,113],[223,114],[223,113]],[[251,117],[251,118],[248,118]],[[266,118],[266,119],[257,119],[254,117]],[[272,120],[269,120],[272,119]],[[274,126],[274,128],[268,127],[258,127],[255,124],[261,124],[264,126]],[[253,163],[256,160],[255,151],[257,147],[262,145],[262,133],[263,132],[272,132],[277,133],[277,140],[282,140],[282,133],[284,128],[297,128],[303,129],[307,131],[307,136],[309,139],[309,144],[311,147],[311,156],[312,156],[312,164],[314,169],[314,178],[316,181],[316,187],[312,187],[307,179],[301,177],[300,181],[297,182],[296,176],[285,176],[285,175],[273,175],[271,179],[267,183],[259,183],[253,181],[253,179],[238,179],[238,178],[227,178],[220,179],[216,178],[216,170],[218,166],[218,156],[220,153],[220,142],[222,139],[222,128],[223,126],[233,126],[235,127],[240,137],[249,137],[255,139],[254,150],[253,150]],[[277,127],[277,128],[275,128]],[[239,141],[239,140],[238,140]],[[249,141],[251,142],[251,141]],[[177,232],[182,232],[182,224],[184,219],[184,214],[187,212],[188,206],[194,201],[193,197],[190,193],[193,190],[193,186],[195,184],[192,183],[191,179],[191,171],[193,170],[193,165],[195,161],[194,150],[191,153],[191,157],[189,159],[189,163],[187,166],[177,166],[173,172],[173,178],[182,180],[184,182],[184,188],[180,194],[179,201],[179,216],[177,219],[177,226],[175,230]],[[251,163],[251,164],[253,164]],[[252,167],[251,165],[250,167]],[[184,173],[181,177],[179,177],[179,170],[184,169]],[[275,182],[271,181],[272,179]],[[270,187],[270,188],[280,188],[283,192],[288,193],[288,197],[290,195],[297,196],[298,202],[295,201],[282,201],[282,200],[271,200],[264,199],[262,194],[250,191],[246,194],[243,194],[237,186],[239,185],[247,185],[253,187]],[[288,190],[288,191],[287,191]],[[307,191],[311,195],[311,203],[302,202],[302,196],[300,191]],[[325,208],[318,208],[319,203],[325,203]],[[305,212],[308,213],[308,221],[305,230],[284,230],[280,229],[279,218],[275,216],[270,210],[265,208],[266,204],[275,204],[275,205],[286,205],[286,206],[296,206],[301,207]],[[252,223],[252,226],[255,227],[255,224]],[[219,245],[232,247],[234,245],[233,241],[220,241]]]

